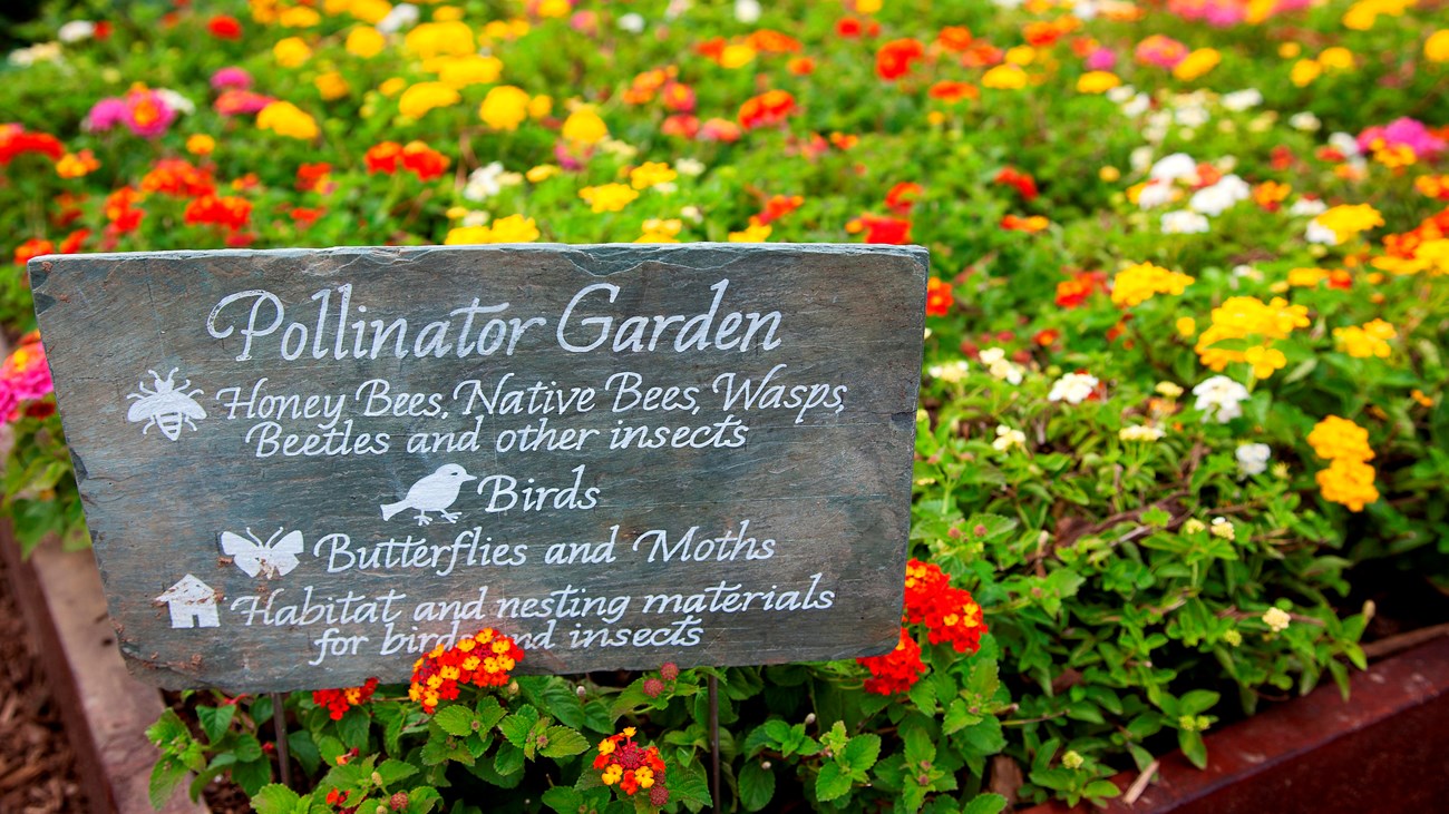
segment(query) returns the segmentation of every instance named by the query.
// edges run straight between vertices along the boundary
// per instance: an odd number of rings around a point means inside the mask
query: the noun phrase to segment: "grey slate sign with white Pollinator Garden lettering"
[[[897,642],[927,253],[49,256],[41,332],[132,671],[406,681]]]

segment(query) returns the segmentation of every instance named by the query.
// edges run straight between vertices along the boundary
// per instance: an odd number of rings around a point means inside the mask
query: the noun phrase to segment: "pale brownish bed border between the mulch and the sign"
[[[91,811],[152,814],[148,797],[156,750],[145,730],[165,708],[161,694],[126,672],[90,550],[45,540],[20,558],[9,521],[0,556],[26,623],[41,646]],[[178,789],[161,814],[210,814]]]

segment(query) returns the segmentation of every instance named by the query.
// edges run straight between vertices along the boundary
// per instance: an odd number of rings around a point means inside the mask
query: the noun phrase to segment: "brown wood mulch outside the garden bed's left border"
[[[0,559],[0,814],[87,811],[61,713]]]

